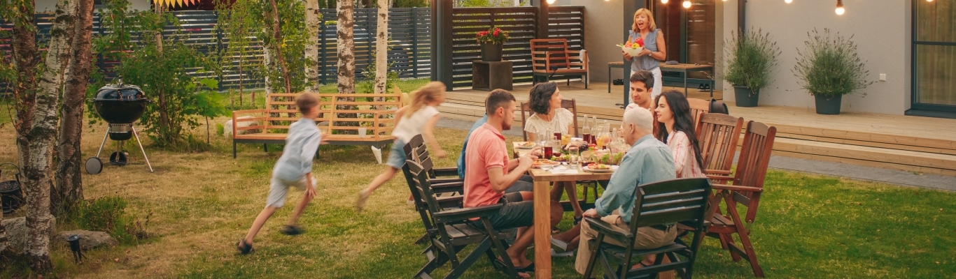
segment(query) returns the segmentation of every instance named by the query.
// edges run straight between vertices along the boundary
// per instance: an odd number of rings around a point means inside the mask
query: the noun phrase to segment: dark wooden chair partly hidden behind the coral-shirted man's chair
[[[431,160],[430,158],[422,158],[421,151],[419,154],[415,154],[415,150],[425,150],[424,139],[421,134],[415,135],[412,137],[411,141],[405,145],[405,157],[408,159],[416,159],[418,161],[422,160]],[[439,206],[443,209],[454,209],[462,208],[462,192],[465,186],[464,179],[458,178],[457,169],[453,169],[453,173],[442,173],[445,170],[436,171],[436,169],[429,169],[428,176],[431,178],[431,188],[432,191],[436,194],[442,195],[437,198]],[[422,223],[424,225],[425,233],[422,237],[415,241],[415,244],[421,245],[428,242],[429,232],[433,232],[435,229],[434,224],[431,223],[431,219],[428,216],[428,206],[425,204],[424,199],[419,194],[415,186],[414,175],[410,170],[408,170],[408,164],[402,166],[402,173],[405,175],[405,182],[408,183],[408,189],[411,190],[412,200],[415,202],[415,210],[419,212],[419,215],[422,217]],[[454,176],[454,178],[443,178],[438,179],[436,176]]]

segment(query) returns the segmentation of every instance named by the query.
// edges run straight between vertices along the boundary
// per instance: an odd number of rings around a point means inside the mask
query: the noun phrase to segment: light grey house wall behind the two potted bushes
[[[737,1],[724,2],[724,36],[737,28]],[[796,49],[803,48],[807,32],[829,28],[853,35],[859,57],[865,61],[869,79],[876,81],[860,94],[843,96],[842,110],[899,114],[910,107],[910,42],[912,0],[843,0],[846,12],[837,15],[836,1],[748,1],[747,27],[769,31],[783,52],[776,81],[761,91],[760,105],[815,108],[814,98],[800,89],[793,76]],[[880,82],[880,73],[886,81]],[[733,99],[725,82],[725,98]]]

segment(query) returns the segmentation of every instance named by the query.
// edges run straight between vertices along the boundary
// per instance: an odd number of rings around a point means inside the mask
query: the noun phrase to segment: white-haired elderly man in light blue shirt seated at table
[[[611,182],[600,198],[595,201],[595,209],[584,211],[585,217],[600,218],[611,226],[630,230],[629,222],[634,211],[637,187],[648,183],[676,178],[674,158],[667,145],[651,135],[653,117],[649,110],[627,110],[624,112],[624,142],[631,149],[624,155],[618,170],[611,175]],[[577,248],[575,269],[583,274],[591,259],[588,241],[597,238],[597,231],[587,222],[581,223],[580,240]],[[668,245],[677,237],[674,226],[643,227],[638,229],[635,249],[655,249]],[[611,238],[605,242],[623,246]],[[647,260],[647,259],[645,259]],[[638,264],[641,265],[641,264]]]

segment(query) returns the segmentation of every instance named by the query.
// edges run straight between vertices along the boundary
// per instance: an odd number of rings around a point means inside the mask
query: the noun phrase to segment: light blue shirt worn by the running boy
[[[312,172],[312,161],[321,142],[322,132],[315,127],[314,120],[301,118],[290,125],[286,147],[272,168],[272,176],[286,181],[302,179],[306,173]]]

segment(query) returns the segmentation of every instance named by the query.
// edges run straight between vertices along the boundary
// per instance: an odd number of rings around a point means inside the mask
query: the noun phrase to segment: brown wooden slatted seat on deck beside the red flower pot
[[[570,77],[579,76],[584,81],[584,89],[588,88],[588,54],[586,50],[568,50],[568,40],[566,39],[532,39],[531,49],[533,83],[537,83],[538,76],[544,76],[545,81],[548,81],[554,75],[558,75],[567,77],[570,86]]]

